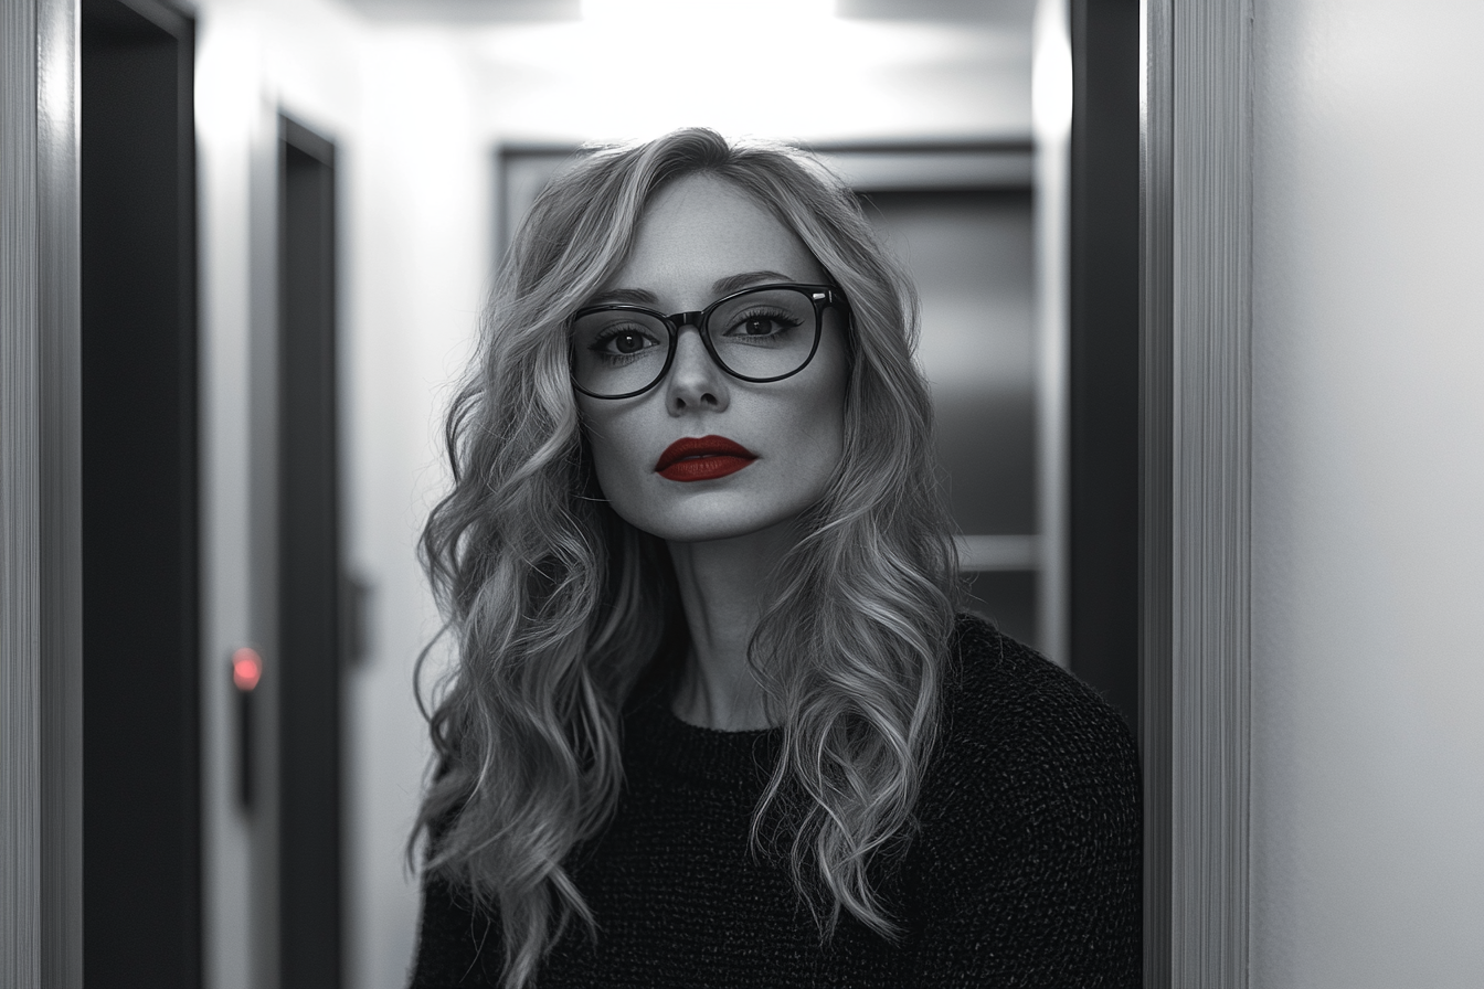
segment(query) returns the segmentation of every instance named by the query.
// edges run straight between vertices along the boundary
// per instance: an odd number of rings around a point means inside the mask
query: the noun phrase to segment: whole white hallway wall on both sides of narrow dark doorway
[[[488,268],[487,150],[448,44],[375,30],[326,0],[209,0],[197,9],[205,445],[206,982],[272,986],[273,829],[236,805],[226,657],[264,648],[272,595],[251,565],[272,399],[254,338],[273,332],[275,114],[335,142],[344,555],[370,583],[370,655],[346,676],[343,850],[347,986],[405,985],[417,881],[404,869],[429,758],[413,664],[436,630],[416,535],[441,488],[444,384]],[[264,406],[264,402],[267,405]],[[255,454],[255,451],[258,451]],[[261,790],[269,790],[266,786]]]

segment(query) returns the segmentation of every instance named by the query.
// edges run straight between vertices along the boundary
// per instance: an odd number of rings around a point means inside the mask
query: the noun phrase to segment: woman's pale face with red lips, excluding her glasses
[[[634,251],[588,304],[695,311],[770,282],[825,277],[772,214],[721,179],[693,175],[654,196]],[[699,331],[684,326],[669,372],[644,394],[579,393],[598,483],[613,510],[660,538],[699,543],[787,523],[819,500],[844,436],[841,322],[834,308],[825,310],[813,360],[782,381],[733,378],[712,362]],[[705,443],[677,446],[703,437]],[[724,452],[718,437],[746,455],[706,457]]]

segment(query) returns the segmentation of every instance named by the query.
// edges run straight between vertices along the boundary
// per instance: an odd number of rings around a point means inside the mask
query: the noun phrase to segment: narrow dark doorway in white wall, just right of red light
[[[341,534],[335,144],[279,110],[276,328],[278,985],[341,971]],[[328,517],[326,517],[328,516]]]

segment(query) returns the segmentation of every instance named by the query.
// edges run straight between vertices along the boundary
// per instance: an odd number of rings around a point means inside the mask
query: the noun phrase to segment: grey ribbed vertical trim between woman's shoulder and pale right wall
[[[1248,985],[1251,0],[1143,0],[1146,985]]]

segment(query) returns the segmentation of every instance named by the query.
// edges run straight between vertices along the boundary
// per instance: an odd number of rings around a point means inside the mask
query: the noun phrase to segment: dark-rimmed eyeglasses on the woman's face
[[[847,311],[830,285],[760,285],[693,313],[662,316],[643,305],[592,305],[571,319],[571,381],[595,399],[631,399],[669,374],[683,326],[700,331],[717,366],[742,381],[782,381],[809,366],[824,311]]]

